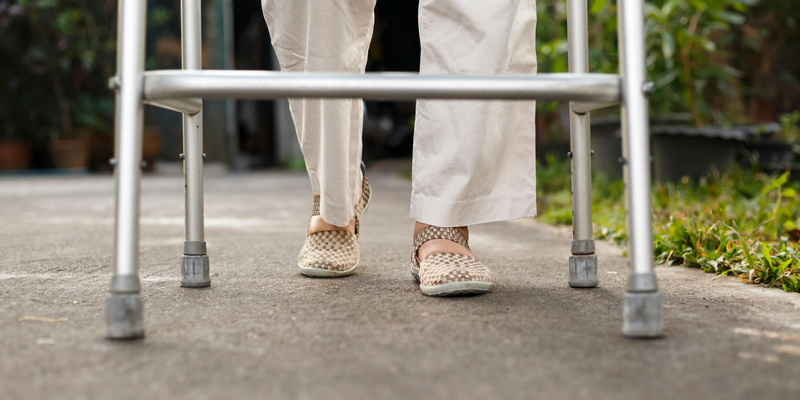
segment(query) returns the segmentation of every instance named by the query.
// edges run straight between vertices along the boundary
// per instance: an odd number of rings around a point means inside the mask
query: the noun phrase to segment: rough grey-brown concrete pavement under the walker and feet
[[[471,230],[486,295],[424,296],[409,274],[410,183],[373,171],[358,273],[296,268],[303,173],[206,176],[212,287],[179,287],[183,184],[144,178],[147,337],[104,338],[111,176],[0,178],[0,399],[797,399],[800,295],[659,267],[666,335],[620,334],[622,250],[567,285],[568,228]]]

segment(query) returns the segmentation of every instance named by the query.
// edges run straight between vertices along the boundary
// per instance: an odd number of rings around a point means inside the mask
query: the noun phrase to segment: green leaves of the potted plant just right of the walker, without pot
[[[734,39],[757,0],[650,0],[645,3],[647,69],[656,83],[654,113],[691,111],[698,127],[725,110],[714,96],[737,98],[743,73],[723,44]],[[725,121],[716,121],[725,122]]]

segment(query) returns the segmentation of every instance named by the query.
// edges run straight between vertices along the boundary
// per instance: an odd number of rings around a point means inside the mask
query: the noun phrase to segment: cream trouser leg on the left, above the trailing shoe
[[[262,0],[282,71],[364,73],[375,0]],[[290,99],[292,119],[326,222],[346,226],[361,193],[359,99]]]

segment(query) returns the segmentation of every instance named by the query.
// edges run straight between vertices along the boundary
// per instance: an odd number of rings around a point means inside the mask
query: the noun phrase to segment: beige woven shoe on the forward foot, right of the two
[[[420,283],[422,293],[428,296],[460,296],[489,291],[492,276],[489,268],[478,260],[463,254],[431,254],[419,259],[419,248],[433,239],[447,239],[467,249],[467,239],[456,228],[429,226],[414,239],[411,254],[411,275]]]

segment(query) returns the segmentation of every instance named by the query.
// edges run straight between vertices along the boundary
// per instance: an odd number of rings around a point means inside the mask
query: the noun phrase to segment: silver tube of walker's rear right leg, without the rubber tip
[[[586,0],[567,0],[569,72],[589,72],[588,17]],[[592,141],[589,114],[569,116],[572,149],[572,240],[592,237]]]

